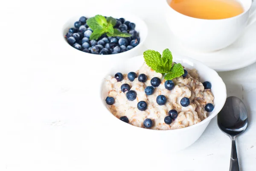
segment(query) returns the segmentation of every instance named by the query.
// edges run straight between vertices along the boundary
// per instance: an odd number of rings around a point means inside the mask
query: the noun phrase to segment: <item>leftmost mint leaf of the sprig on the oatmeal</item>
[[[163,61],[159,52],[154,50],[146,50],[143,53],[143,57],[148,67],[151,67],[152,70],[160,73],[169,72],[169,70],[163,66]]]

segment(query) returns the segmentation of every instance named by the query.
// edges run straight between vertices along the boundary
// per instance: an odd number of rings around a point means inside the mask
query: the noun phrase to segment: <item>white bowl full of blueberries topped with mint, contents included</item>
[[[147,35],[148,27],[142,19],[120,13],[77,15],[62,29],[64,44],[70,50],[107,60],[138,55]]]

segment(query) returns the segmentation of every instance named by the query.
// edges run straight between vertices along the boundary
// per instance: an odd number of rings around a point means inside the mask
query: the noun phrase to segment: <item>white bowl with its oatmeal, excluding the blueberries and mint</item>
[[[165,81],[162,74],[151,70],[144,63],[143,55],[129,59],[125,63],[119,63],[114,66],[108,76],[105,77],[101,87],[101,99],[105,106],[106,114],[109,115],[109,122],[115,124],[119,130],[125,132],[125,136],[119,135],[122,142],[129,142],[131,139],[136,141],[137,145],[143,145],[145,148],[152,148],[157,145],[158,148],[170,146],[170,151],[177,151],[192,145],[207,128],[211,119],[218,114],[226,101],[226,87],[218,73],[204,64],[186,57],[173,55],[177,63],[183,65],[188,71],[188,75],[183,78],[173,79],[175,87],[172,90],[165,88]],[[114,78],[116,72],[121,72],[124,79],[117,81]],[[127,78],[128,72],[136,72],[137,75],[144,73],[147,81],[140,82],[138,78],[130,81]],[[151,78],[158,77],[161,84],[154,87],[154,93],[150,96],[145,94],[145,87],[151,86]],[[211,89],[204,89],[202,82],[209,81],[212,84]],[[131,90],[137,93],[136,99],[129,101],[126,98],[128,91],[122,92],[122,84],[129,84]],[[166,103],[159,105],[156,98],[159,95],[166,97]],[[106,104],[106,97],[113,97],[113,105]],[[187,107],[180,104],[182,98],[189,98]],[[139,101],[145,101],[146,110],[139,110],[137,104]],[[212,112],[207,112],[204,107],[206,104],[213,104]],[[177,118],[172,120],[171,124],[164,121],[169,116],[170,110],[176,110]],[[122,122],[120,117],[126,116],[128,124]],[[151,128],[145,128],[143,122],[145,119],[151,119],[153,125]],[[150,139],[150,141],[148,141]],[[131,144],[131,143],[130,143]]]

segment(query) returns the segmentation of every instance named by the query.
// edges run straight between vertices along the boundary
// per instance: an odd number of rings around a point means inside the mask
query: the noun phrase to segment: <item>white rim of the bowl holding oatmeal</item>
[[[143,56],[143,55],[138,55],[138,56],[135,56],[135,57],[133,57],[133,58],[140,58],[141,56]],[[214,108],[215,110],[213,110],[213,112],[211,113],[211,115],[208,116],[208,117],[207,117],[206,119],[204,119],[203,121],[201,121],[201,122],[199,122],[199,123],[197,123],[197,124],[195,124],[195,125],[191,125],[191,126],[185,127],[185,128],[178,128],[178,129],[173,129],[173,130],[152,130],[152,129],[146,129],[146,128],[137,127],[137,126],[134,126],[134,125],[131,125],[131,124],[126,124],[126,123],[124,123],[123,126],[125,126],[125,125],[126,125],[126,126],[131,126],[131,128],[133,127],[133,129],[140,129],[140,130],[145,130],[145,131],[154,131],[154,132],[155,132],[155,131],[159,131],[159,132],[171,131],[171,132],[177,132],[177,131],[183,131],[183,130],[192,129],[192,128],[198,127],[198,126],[200,126],[200,125],[203,125],[203,124],[206,123],[206,122],[210,122],[211,119],[214,118],[214,117],[221,111],[221,109],[222,109],[222,107],[224,106],[224,104],[225,104],[225,102],[226,102],[226,99],[227,99],[227,88],[226,88],[226,85],[225,85],[224,81],[222,80],[222,78],[218,75],[218,73],[217,73],[215,70],[213,70],[213,69],[207,67],[207,65],[201,63],[200,61],[197,61],[197,60],[192,59],[192,58],[189,58],[189,57],[180,56],[180,55],[179,55],[179,57],[181,57],[181,58],[174,58],[174,59],[180,59],[180,60],[182,60],[182,59],[187,59],[187,60],[189,60],[189,61],[192,61],[192,63],[196,63],[196,64],[199,64],[199,65],[202,65],[202,66],[206,67],[206,68],[208,69],[207,72],[212,72],[211,75],[214,75],[215,78],[216,78],[216,81],[218,81],[218,84],[220,84],[221,87],[223,87],[223,90],[222,90],[222,91],[223,91],[223,92],[222,92],[222,93],[223,93],[223,96],[222,96],[222,99],[219,99],[219,100],[222,100],[222,101],[218,101],[218,104],[220,104],[221,107],[218,108],[218,109]],[[131,58],[131,59],[133,59],[133,58]],[[131,60],[131,59],[128,59],[128,60]],[[116,119],[116,121],[119,121],[119,119],[116,118],[116,116],[114,116],[114,115],[108,110],[108,108],[105,106],[104,102],[102,101],[102,86],[103,86],[103,84],[104,84],[104,81],[105,81],[106,76],[108,76],[108,74],[104,76],[104,78],[102,79],[102,82],[101,82],[101,86],[100,86],[100,100],[101,100],[101,103],[102,103],[102,107],[104,107],[105,110],[106,110],[110,115],[113,116],[113,119]],[[213,94],[213,95],[214,95],[214,94]],[[215,103],[215,104],[216,104],[216,103]]]

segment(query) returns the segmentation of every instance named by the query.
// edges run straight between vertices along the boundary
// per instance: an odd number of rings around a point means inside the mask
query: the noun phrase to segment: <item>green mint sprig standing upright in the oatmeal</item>
[[[165,75],[166,80],[172,80],[184,74],[181,64],[172,64],[172,52],[169,49],[165,49],[162,56],[157,51],[146,50],[143,56],[148,67]]]

